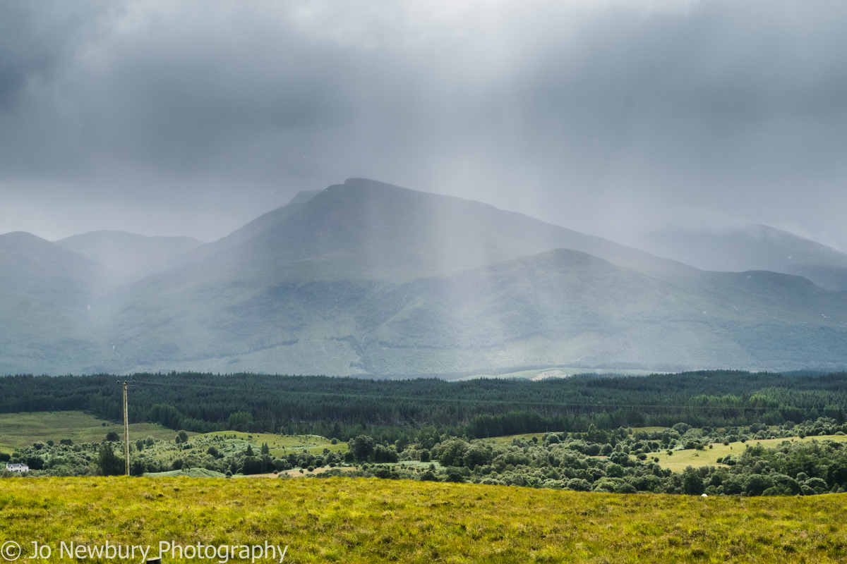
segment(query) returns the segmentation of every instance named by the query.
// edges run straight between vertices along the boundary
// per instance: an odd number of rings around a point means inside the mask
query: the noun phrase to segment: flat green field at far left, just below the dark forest
[[[106,424],[103,426],[103,424]],[[81,411],[53,411],[39,413],[0,413],[0,452],[12,452],[16,446],[62,439],[77,442],[99,442],[109,431],[124,435],[124,425]],[[130,424],[130,440],[173,439],[176,431],[154,423]],[[189,433],[196,435],[196,433]]]

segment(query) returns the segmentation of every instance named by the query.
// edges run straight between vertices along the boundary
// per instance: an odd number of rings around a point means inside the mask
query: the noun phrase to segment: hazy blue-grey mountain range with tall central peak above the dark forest
[[[847,364],[847,293],[770,269],[701,271],[490,205],[362,178],[298,194],[211,244],[155,239],[88,233],[51,244],[3,235],[0,372],[396,376]],[[806,249],[804,265],[839,267],[834,249],[785,240]],[[770,245],[773,260],[787,249]],[[739,265],[761,254],[743,240],[737,247]],[[158,272],[116,287],[98,282],[104,271],[143,269]]]

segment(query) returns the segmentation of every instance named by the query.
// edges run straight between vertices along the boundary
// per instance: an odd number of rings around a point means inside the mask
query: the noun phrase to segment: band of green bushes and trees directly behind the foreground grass
[[[339,475],[342,463],[358,467],[344,475],[382,479],[473,482],[557,490],[614,493],[657,492],[700,495],[811,496],[847,488],[847,443],[825,435],[844,435],[844,424],[819,418],[801,424],[713,429],[678,423],[651,432],[620,427],[584,433],[551,432],[510,443],[424,433],[418,442],[391,445],[367,435],[349,441],[346,453],[320,454],[307,450],[274,457],[267,443],[254,452],[249,441],[235,435],[173,441],[147,437],[130,444],[130,474],[205,468],[221,474],[279,473],[291,468],[307,475]],[[792,441],[792,437],[821,436],[821,440]],[[16,450],[11,462],[29,465],[31,475],[80,476],[123,474],[123,445],[104,438],[99,443],[36,442]],[[773,448],[756,441],[783,438]],[[651,453],[704,449],[714,442],[741,442],[738,454],[719,458],[721,466],[686,468],[682,474],[656,464]],[[329,466],[322,474],[315,468]],[[8,475],[8,474],[7,474]]]

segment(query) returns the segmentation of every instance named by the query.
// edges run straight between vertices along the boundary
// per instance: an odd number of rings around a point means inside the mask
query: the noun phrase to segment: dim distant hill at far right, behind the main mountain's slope
[[[650,233],[645,249],[706,271],[795,274],[832,292],[847,290],[847,254],[792,233],[754,225],[724,233]]]

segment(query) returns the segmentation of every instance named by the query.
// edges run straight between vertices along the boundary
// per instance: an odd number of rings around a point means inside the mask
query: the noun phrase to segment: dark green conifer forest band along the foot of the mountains
[[[171,429],[368,435],[390,444],[425,435],[488,436],[620,426],[695,427],[844,422],[847,374],[703,371],[564,380],[363,380],[324,376],[137,374],[130,421]],[[0,378],[0,411],[87,410],[122,419],[112,375]]]

